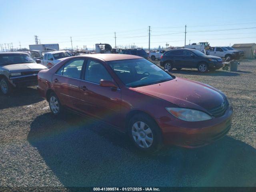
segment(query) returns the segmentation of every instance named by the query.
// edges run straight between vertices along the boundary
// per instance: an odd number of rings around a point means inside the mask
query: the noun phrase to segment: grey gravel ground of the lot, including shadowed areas
[[[233,124],[209,146],[155,156],[90,119],[53,118],[35,88],[0,96],[0,186],[256,186],[256,60],[238,70],[172,71],[222,90]]]

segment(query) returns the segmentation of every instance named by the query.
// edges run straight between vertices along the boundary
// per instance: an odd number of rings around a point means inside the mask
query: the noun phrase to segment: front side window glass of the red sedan
[[[100,62],[91,59],[88,59],[87,61],[84,79],[98,84],[100,83],[100,80],[112,81],[106,68]]]

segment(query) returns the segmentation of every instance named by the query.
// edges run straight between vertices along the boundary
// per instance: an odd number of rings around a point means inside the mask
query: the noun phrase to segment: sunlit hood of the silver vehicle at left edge
[[[45,66],[37,63],[11,64],[5,65],[2,68],[9,70],[10,72],[39,71],[47,69]]]

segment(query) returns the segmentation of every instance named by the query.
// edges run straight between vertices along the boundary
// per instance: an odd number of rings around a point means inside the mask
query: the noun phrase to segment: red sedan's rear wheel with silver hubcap
[[[57,116],[61,116],[63,114],[63,107],[60,103],[58,96],[54,92],[50,93],[49,107],[50,107],[51,113],[54,116],[57,117]]]

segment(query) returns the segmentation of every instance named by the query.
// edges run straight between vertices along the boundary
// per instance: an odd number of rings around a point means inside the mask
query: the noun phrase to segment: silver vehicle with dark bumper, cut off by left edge
[[[37,74],[47,69],[24,52],[0,53],[0,90],[10,94],[14,87],[37,85]]]

